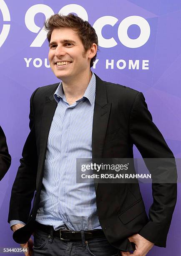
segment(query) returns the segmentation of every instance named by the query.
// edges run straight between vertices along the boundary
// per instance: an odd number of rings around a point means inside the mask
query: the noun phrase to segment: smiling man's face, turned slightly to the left
[[[85,53],[80,38],[72,28],[55,28],[49,45],[50,67],[59,79],[73,79],[90,70],[89,51]],[[63,61],[69,62],[63,64]]]

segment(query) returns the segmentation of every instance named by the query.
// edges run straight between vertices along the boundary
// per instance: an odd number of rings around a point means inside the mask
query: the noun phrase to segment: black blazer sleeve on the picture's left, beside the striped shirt
[[[36,148],[33,98],[38,89],[33,92],[30,98],[30,133],[23,147],[20,166],[13,183],[8,222],[10,220],[20,220],[27,223],[31,209],[31,201],[36,188],[36,174],[38,166],[38,156]]]

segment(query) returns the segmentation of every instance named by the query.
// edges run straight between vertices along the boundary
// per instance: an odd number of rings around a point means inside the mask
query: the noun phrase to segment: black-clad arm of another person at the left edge
[[[6,137],[0,126],[0,180],[3,179],[10,168],[11,156],[8,152]]]

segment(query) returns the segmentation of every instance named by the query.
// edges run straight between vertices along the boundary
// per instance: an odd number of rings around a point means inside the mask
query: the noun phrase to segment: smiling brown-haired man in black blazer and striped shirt
[[[133,249],[145,256],[154,244],[165,247],[176,184],[152,184],[148,218],[138,183],[76,182],[76,159],[133,158],[133,144],[144,158],[174,158],[143,94],[91,71],[98,38],[87,21],[55,14],[45,28],[50,67],[62,82],[30,99],[30,133],[10,200],[14,240],[37,256],[124,256]]]

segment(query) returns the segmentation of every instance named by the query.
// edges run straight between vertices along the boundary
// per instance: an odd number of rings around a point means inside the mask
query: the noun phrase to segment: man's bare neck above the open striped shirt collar
[[[76,100],[79,100],[83,97],[85,90],[88,87],[88,84],[91,80],[92,72],[87,74],[81,74],[78,79],[74,79],[72,82],[62,81],[63,91],[66,97],[67,102],[71,105]]]

